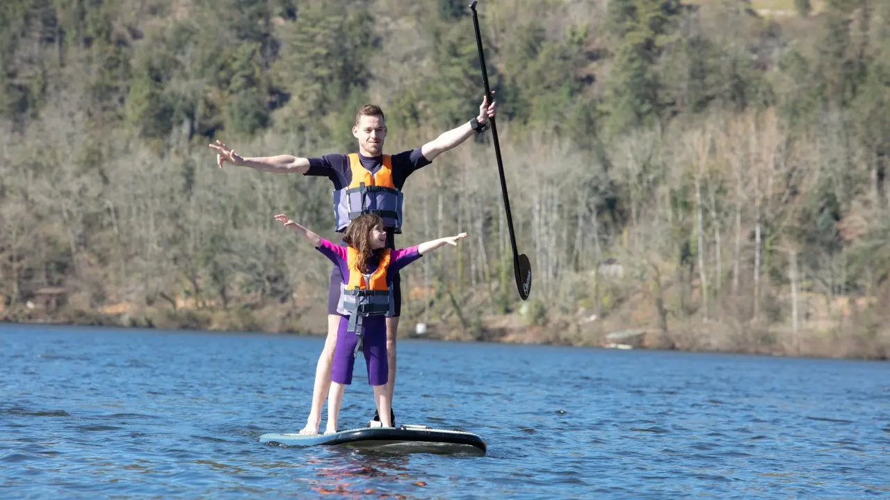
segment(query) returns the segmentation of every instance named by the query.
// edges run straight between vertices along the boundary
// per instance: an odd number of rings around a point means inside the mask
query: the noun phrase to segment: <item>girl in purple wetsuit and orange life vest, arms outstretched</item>
[[[385,391],[389,377],[385,317],[392,315],[392,276],[431,250],[444,245],[457,246],[457,240],[464,238],[466,233],[391,251],[385,247],[384,221],[376,214],[362,214],[350,222],[344,234],[346,246],[335,245],[321,238],[291,221],[285,214],[276,215],[275,220],[303,235],[321,254],[340,267],[344,277],[337,307],[341,318],[331,367],[325,433],[336,432],[344,389],[352,383],[352,367],[359,349],[365,355],[368,383],[374,387],[374,402],[380,423],[383,427],[392,427],[392,401]]]

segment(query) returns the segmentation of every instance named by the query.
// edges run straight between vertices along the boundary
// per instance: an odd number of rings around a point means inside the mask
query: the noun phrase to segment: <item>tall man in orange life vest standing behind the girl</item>
[[[384,141],[387,133],[384,112],[374,105],[363,106],[355,115],[352,135],[359,141],[358,154],[331,154],[310,158],[291,155],[240,157],[233,149],[229,149],[220,141],[210,144],[210,148],[216,151],[216,164],[220,168],[223,167],[223,162],[230,162],[232,165],[247,166],[264,172],[303,173],[303,175],[328,177],[334,183],[336,230],[344,231],[349,221],[360,214],[377,213],[384,218],[387,226],[386,246],[394,248],[394,234],[401,232],[401,190],[408,176],[420,168],[430,165],[435,157],[457,147],[473,134],[487,130],[489,118],[495,116],[496,104],[495,101],[492,101],[489,105],[488,99],[483,98],[479,107],[479,116],[473,117],[464,125],[441,133],[439,137],[425,143],[420,148],[402,151],[392,156],[384,155]],[[371,189],[368,190],[368,187]],[[337,326],[340,322],[340,315],[336,309],[342,280],[339,268],[334,266],[331,270],[328,290],[328,338],[315,370],[312,409],[306,420],[306,426],[300,431],[301,434],[317,434],[319,431],[321,407],[331,382],[331,363],[334,358]],[[395,384],[396,332],[399,327],[401,311],[401,278],[399,275],[393,279],[392,285],[395,313],[392,317],[386,318],[386,351],[389,365],[386,391],[390,401],[392,401]],[[375,415],[374,421],[378,419],[379,415]],[[392,423],[394,426],[394,413]]]

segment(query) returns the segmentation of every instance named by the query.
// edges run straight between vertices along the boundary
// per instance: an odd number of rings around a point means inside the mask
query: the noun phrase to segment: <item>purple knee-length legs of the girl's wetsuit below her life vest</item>
[[[368,366],[368,385],[384,385],[389,379],[389,365],[386,362],[386,320],[384,316],[366,316],[362,318],[364,340],[361,352],[365,355]],[[359,336],[355,332],[347,332],[349,317],[340,317],[340,326],[336,332],[334,363],[331,365],[331,381],[349,385],[352,383],[352,368],[355,367],[355,344]]]

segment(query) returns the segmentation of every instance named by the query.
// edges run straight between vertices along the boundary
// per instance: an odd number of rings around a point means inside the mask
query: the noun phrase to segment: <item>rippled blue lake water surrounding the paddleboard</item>
[[[0,496],[890,497],[888,363],[401,340],[397,423],[486,456],[260,444],[303,426],[321,345],[0,326]],[[373,415],[359,361],[341,429]]]

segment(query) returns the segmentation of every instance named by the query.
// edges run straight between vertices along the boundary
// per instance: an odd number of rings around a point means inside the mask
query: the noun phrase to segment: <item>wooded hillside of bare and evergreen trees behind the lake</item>
[[[4,0],[0,315],[324,326],[330,182],[214,164],[387,150],[478,110],[465,0]],[[769,4],[782,4],[772,2]],[[518,245],[490,133],[406,187],[403,332],[890,355],[890,2],[482,0]],[[773,5],[771,8],[775,9]]]

